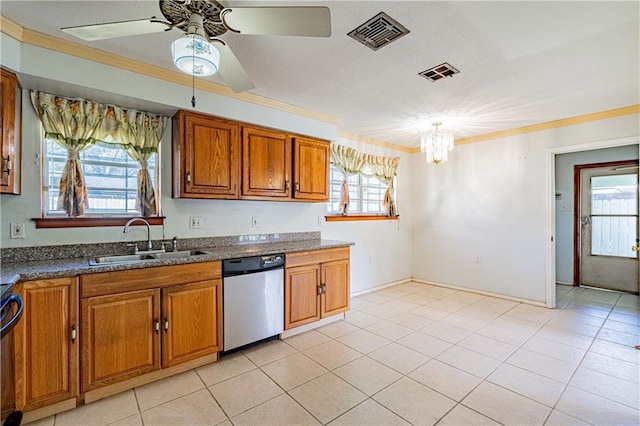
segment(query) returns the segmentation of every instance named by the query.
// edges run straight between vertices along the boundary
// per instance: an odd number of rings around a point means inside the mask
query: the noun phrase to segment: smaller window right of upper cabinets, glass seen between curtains
[[[342,186],[342,172],[333,163],[330,166],[330,193],[327,212],[330,215],[340,215],[340,187]],[[382,203],[387,186],[377,178],[370,175],[368,167],[347,179],[349,186],[349,214],[355,215],[385,215],[386,210]]]

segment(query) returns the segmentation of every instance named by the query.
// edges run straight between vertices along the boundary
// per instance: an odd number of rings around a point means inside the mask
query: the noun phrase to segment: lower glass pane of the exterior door
[[[591,220],[591,254],[637,258],[631,250],[637,235],[633,216],[593,216]]]

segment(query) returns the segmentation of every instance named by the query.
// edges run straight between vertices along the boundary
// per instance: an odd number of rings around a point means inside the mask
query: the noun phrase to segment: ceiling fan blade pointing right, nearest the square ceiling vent
[[[229,7],[220,16],[227,28],[240,34],[331,36],[328,7]]]

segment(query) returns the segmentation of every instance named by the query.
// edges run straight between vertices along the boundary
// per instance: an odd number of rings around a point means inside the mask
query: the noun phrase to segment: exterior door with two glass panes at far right
[[[637,293],[637,246],[638,167],[581,170],[579,284]]]

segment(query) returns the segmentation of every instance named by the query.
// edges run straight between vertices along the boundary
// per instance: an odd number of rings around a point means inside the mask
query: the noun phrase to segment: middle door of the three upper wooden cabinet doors
[[[242,196],[248,199],[289,198],[291,139],[284,133],[242,128]]]

